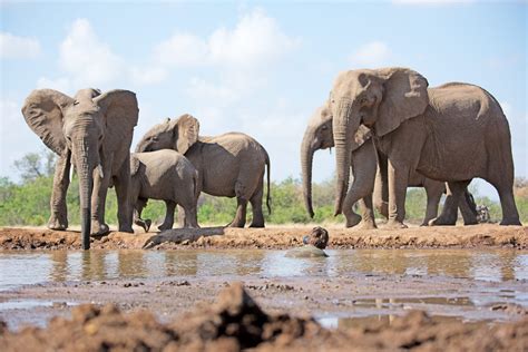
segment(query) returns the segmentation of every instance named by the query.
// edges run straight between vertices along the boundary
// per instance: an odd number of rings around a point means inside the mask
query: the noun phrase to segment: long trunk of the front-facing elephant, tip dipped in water
[[[87,139],[80,139],[74,145],[75,163],[79,176],[79,198],[81,211],[82,250],[90,248],[91,233],[91,193],[94,190],[94,169],[98,162],[90,150]]]

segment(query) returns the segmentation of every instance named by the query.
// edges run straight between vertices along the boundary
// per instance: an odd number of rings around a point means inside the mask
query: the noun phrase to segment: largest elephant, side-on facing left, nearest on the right
[[[459,199],[475,177],[498,190],[500,224],[520,225],[508,120],[485,89],[462,82],[429,88],[427,79],[409,68],[359,69],[339,74],[330,100],[338,168],[335,214],[343,209],[353,136],[365,125],[388,160],[391,227],[407,227],[411,170],[448,183],[443,211],[430,225],[454,224]]]

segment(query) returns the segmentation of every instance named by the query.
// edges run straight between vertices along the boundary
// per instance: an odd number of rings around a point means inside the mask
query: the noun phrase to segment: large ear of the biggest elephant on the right
[[[384,84],[374,130],[381,137],[426,110],[429,82],[420,74],[407,68],[380,69],[378,72]]]

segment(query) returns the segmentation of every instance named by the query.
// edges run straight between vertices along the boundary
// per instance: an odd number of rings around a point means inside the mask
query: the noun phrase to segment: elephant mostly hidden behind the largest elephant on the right
[[[349,188],[344,205],[343,214],[345,215],[345,226],[352,227],[356,225],[361,217],[352,209],[355,201],[363,198],[360,206],[363,209],[362,227],[375,228],[375,222],[372,212],[373,204],[378,212],[388,217],[387,206],[387,159],[377,155],[377,150],[372,145],[371,133],[364,126],[360,126],[354,136],[352,144],[351,170],[353,173],[353,183]],[[311,217],[314,216],[312,206],[312,162],[313,154],[319,149],[334,147],[332,113],[329,105],[324,105],[315,110],[315,114],[309,121],[304,133],[301,147],[301,165],[303,174],[303,195],[304,204]],[[378,164],[380,162],[380,167]],[[377,172],[378,168],[378,172]],[[375,184],[374,184],[375,178]],[[446,184],[424,177],[423,175],[412,172],[409,177],[409,187],[423,187],[427,194],[427,211],[422,222],[428,225],[429,221],[438,215],[438,205],[443,193],[446,193]],[[466,197],[461,199],[460,211],[462,213],[465,224],[477,224],[475,204],[471,202],[471,194],[466,190]]]

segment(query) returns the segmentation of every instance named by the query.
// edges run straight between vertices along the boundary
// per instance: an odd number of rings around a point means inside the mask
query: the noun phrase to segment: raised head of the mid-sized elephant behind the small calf
[[[185,154],[198,140],[199,123],[185,114],[177,119],[167,118],[150,128],[136,146],[136,153],[174,149]]]

